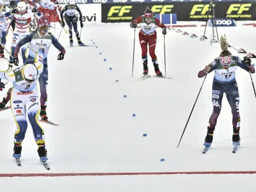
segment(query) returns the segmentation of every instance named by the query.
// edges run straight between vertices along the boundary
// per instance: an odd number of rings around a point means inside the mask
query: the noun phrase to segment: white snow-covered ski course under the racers
[[[225,34],[228,43],[237,49],[243,47],[248,52],[256,52],[253,44],[256,28],[237,23],[234,28],[218,28],[219,36]],[[196,24],[200,26],[204,22]],[[60,42],[67,49],[67,54],[63,61],[58,61],[58,50],[51,47],[47,87],[47,114],[52,122],[60,125],[42,124],[51,170],[45,170],[39,163],[30,125],[22,148],[22,166],[15,165],[12,157],[15,122],[12,111],[2,111],[0,191],[254,191],[255,175],[24,178],[1,175],[255,171],[256,129],[252,120],[256,100],[250,76],[241,68],[237,70],[241,114],[241,147],[237,154],[232,154],[232,115],[225,97],[212,148],[208,154],[202,154],[212,113],[211,84],[214,73],[207,76],[180,147],[177,148],[203,81],[197,77],[197,73],[218,57],[221,51],[220,44],[199,40],[199,36],[204,34],[204,27],[180,29],[189,35],[195,33],[198,37],[190,38],[173,30],[167,31],[166,75],[173,79],[149,77],[145,81],[140,79],[143,66],[138,29],[133,77],[134,30],[129,24],[85,26],[81,40],[84,44],[95,43],[97,47],[69,47],[68,34],[62,33]],[[207,28],[206,32],[206,36],[210,37],[212,29]],[[157,33],[156,54],[159,67],[164,72],[164,38],[161,29],[157,28]],[[10,42],[10,34],[8,38]],[[75,36],[74,40],[76,44]],[[10,48],[10,44],[7,48]],[[230,52],[241,58],[245,56],[232,48]],[[150,60],[148,63],[149,72],[153,75],[153,65]],[[7,68],[8,61],[1,60],[0,70]],[[256,82],[254,74],[253,80]],[[10,84],[0,93],[0,100],[8,87]]]

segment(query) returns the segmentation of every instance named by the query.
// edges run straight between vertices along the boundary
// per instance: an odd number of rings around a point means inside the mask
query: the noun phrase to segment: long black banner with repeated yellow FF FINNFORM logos
[[[206,21],[216,19],[256,20],[256,2],[209,3],[141,3],[101,4],[102,22],[131,22],[143,15],[147,6],[155,14],[176,13],[178,21]],[[213,7],[214,12],[212,12]]]

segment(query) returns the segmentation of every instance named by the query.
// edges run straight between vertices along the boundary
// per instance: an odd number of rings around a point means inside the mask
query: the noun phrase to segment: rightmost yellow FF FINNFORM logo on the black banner
[[[251,18],[252,14],[250,12],[252,8],[252,3],[244,4],[230,4],[227,10],[227,18]]]

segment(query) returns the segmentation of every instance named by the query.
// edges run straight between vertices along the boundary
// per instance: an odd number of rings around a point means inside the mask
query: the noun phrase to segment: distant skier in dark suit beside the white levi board
[[[64,28],[65,26],[65,22],[63,20],[63,13],[65,12],[64,15],[64,19],[67,22],[68,25],[68,32],[69,32],[69,41],[70,41],[70,46],[73,46],[73,39],[72,39],[72,26],[74,27],[74,31],[76,33],[76,38],[78,41],[78,44],[80,46],[84,46],[84,44],[81,42],[80,40],[80,36],[79,33],[77,31],[77,18],[76,18],[76,12],[79,13],[79,21],[80,21],[80,26],[81,28],[83,28],[83,20],[82,20],[82,13],[81,10],[78,8],[78,6],[76,5],[76,1],[75,0],[70,0],[69,4],[67,4],[65,6],[65,8],[63,8],[63,10],[60,13],[61,16],[61,21],[62,24],[61,26]]]

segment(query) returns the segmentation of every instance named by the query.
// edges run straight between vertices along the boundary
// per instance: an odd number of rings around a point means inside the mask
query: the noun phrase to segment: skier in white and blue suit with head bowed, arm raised
[[[0,86],[4,88],[1,79],[6,79],[13,83],[11,93],[11,108],[17,131],[14,136],[13,157],[20,158],[22,141],[25,138],[28,127],[27,115],[33,129],[36,144],[38,145],[38,155],[41,160],[47,161],[47,150],[45,149],[44,131],[38,123],[39,99],[36,83],[44,69],[44,49],[39,49],[36,54],[35,63],[22,65],[11,71],[0,71]]]

